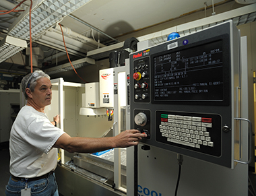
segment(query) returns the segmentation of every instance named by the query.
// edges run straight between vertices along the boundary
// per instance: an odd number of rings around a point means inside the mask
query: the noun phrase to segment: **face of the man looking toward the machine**
[[[39,108],[44,108],[51,104],[52,84],[50,79],[42,77],[37,80],[34,92],[31,92],[32,100]]]

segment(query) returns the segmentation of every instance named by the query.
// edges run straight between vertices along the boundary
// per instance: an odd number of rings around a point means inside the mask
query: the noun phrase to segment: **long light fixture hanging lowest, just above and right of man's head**
[[[95,60],[90,59],[88,57],[83,59],[78,59],[76,61],[71,62],[73,67],[75,69],[79,69],[80,67],[84,67],[86,65],[95,65]],[[65,63],[63,65],[57,65],[55,67],[51,67],[49,69],[45,69],[44,72],[47,74],[55,74],[55,73],[61,73],[63,71],[69,71],[73,69],[70,63]]]

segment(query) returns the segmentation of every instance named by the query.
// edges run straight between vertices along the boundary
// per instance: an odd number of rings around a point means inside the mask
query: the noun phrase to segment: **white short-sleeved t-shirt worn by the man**
[[[49,121],[46,114],[32,106],[24,106],[11,127],[11,174],[34,178],[55,170],[57,148],[53,148],[53,145],[63,133]]]

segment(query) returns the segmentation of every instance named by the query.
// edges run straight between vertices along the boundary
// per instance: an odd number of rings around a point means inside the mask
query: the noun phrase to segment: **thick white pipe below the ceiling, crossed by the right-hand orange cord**
[[[69,38],[73,38],[75,40],[78,40],[79,42],[83,42],[84,44],[89,44],[94,46],[94,49],[100,47],[105,47],[104,44],[98,43],[95,40],[88,38],[86,36],[82,36],[81,34],[78,34],[77,32],[73,32],[70,28],[67,27],[61,27],[63,30],[63,34]],[[51,28],[51,30],[55,30],[55,32],[58,32],[59,34],[61,34],[61,28],[59,25],[56,25],[55,27]],[[51,31],[49,30],[49,31]]]

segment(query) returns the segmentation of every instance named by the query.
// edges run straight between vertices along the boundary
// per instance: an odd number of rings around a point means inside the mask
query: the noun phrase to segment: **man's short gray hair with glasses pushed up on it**
[[[47,77],[50,79],[50,76],[42,70],[35,70],[33,73],[28,73],[22,79],[22,92],[26,99],[28,99],[28,95],[26,94],[26,88],[29,88],[31,92],[34,92],[34,88],[36,86],[36,81],[42,77]]]

